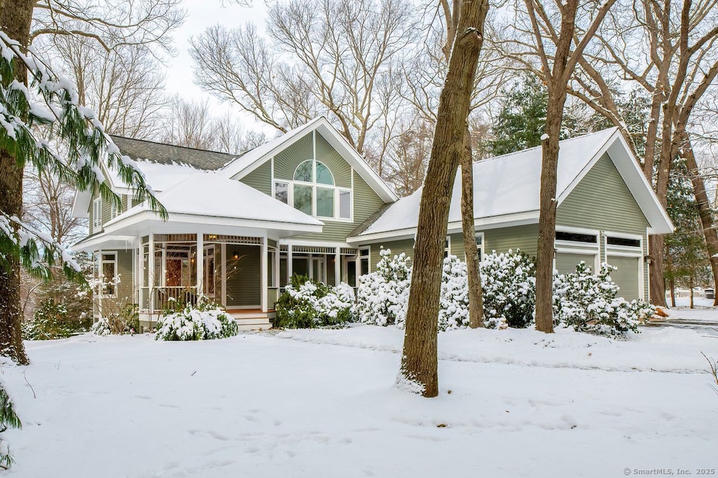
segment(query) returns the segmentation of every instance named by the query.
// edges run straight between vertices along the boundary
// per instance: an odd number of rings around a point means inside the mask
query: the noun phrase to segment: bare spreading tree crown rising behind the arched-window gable
[[[381,89],[397,85],[386,76],[414,41],[414,18],[406,0],[277,2],[266,38],[248,24],[192,39],[195,81],[281,132],[326,115],[363,153],[391,108]]]

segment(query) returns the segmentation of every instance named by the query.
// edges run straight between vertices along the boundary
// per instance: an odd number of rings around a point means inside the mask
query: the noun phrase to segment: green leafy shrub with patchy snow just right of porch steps
[[[286,329],[342,324],[352,319],[353,305],[354,290],[348,284],[331,287],[295,275],[276,302],[274,324]]]

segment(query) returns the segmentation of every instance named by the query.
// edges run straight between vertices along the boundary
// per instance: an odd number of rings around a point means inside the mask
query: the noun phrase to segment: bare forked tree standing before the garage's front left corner
[[[555,4],[544,4],[538,0],[517,1],[514,7],[517,16],[523,6],[527,15],[513,22],[516,36],[509,42],[503,42],[505,55],[518,65],[540,72],[549,95],[546,132],[541,138],[543,152],[536,263],[536,329],[541,332],[554,332],[556,176],[567,89],[584,49],[614,3],[615,0],[607,0],[596,9],[592,2],[579,0]]]

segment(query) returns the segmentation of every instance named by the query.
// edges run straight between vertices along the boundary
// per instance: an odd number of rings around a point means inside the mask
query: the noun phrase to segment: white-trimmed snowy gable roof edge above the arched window
[[[312,131],[318,131],[384,202],[394,202],[397,200],[396,194],[388,187],[386,182],[371,169],[353,146],[349,144],[345,137],[342,136],[324,116],[314,118],[302,126],[287,131],[283,135],[261,146],[257,146],[255,149],[247,151],[241,157],[238,157],[223,167],[223,169],[220,169],[218,174],[223,174],[233,179],[241,179],[266,161],[269,161],[272,156],[275,156],[287,146],[291,146],[294,141],[297,141]]]

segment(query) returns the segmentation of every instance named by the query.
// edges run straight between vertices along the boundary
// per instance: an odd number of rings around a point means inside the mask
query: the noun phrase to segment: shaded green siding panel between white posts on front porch
[[[261,249],[257,245],[227,246],[227,305],[261,304]],[[240,257],[233,258],[234,253]]]

